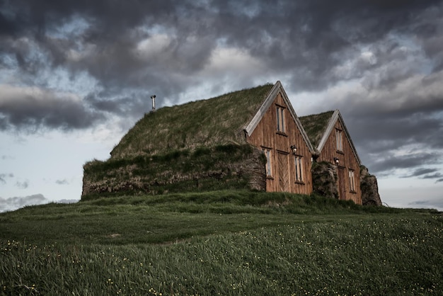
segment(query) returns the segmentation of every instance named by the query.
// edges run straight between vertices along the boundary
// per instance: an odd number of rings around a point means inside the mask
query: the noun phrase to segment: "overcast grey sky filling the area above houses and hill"
[[[443,1],[0,1],[0,211],[79,200],[151,108],[282,81],[394,207],[443,210]]]

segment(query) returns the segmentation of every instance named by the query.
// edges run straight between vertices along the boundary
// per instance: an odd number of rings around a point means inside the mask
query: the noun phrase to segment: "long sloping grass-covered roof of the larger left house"
[[[113,158],[177,149],[246,143],[243,129],[265,101],[272,84],[146,113],[113,149]]]

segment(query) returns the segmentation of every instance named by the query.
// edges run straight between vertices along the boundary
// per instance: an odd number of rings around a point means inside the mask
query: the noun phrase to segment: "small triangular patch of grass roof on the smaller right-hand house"
[[[321,137],[323,137],[333,113],[334,111],[327,111],[319,114],[302,116],[299,118],[301,125],[303,125],[304,130],[314,148],[318,147]]]

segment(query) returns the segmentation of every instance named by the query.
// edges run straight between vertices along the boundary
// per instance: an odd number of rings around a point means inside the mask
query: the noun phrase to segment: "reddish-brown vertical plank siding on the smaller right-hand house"
[[[337,139],[335,135],[336,130],[342,131],[342,146],[343,151],[337,150]],[[345,135],[345,130],[340,123],[340,120],[337,120],[335,123],[335,130],[330,132],[328,140],[326,141],[325,146],[321,150],[320,156],[318,156],[317,161],[328,161],[334,164],[334,158],[338,158],[338,192],[340,194],[340,199],[343,200],[353,200],[354,203],[359,205],[362,204],[362,190],[360,189],[360,166],[358,164],[357,158],[355,154],[352,152],[352,148],[349,140]],[[340,168],[343,169],[342,173],[340,172]],[[355,178],[355,190],[351,190],[349,171],[354,171]],[[343,175],[343,176],[340,176]],[[343,180],[342,180],[343,179]],[[345,195],[345,196],[341,196]]]

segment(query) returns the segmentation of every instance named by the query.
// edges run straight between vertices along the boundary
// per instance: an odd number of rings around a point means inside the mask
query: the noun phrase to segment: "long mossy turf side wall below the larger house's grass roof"
[[[82,200],[121,194],[265,190],[265,156],[251,145],[184,149],[84,165]]]

